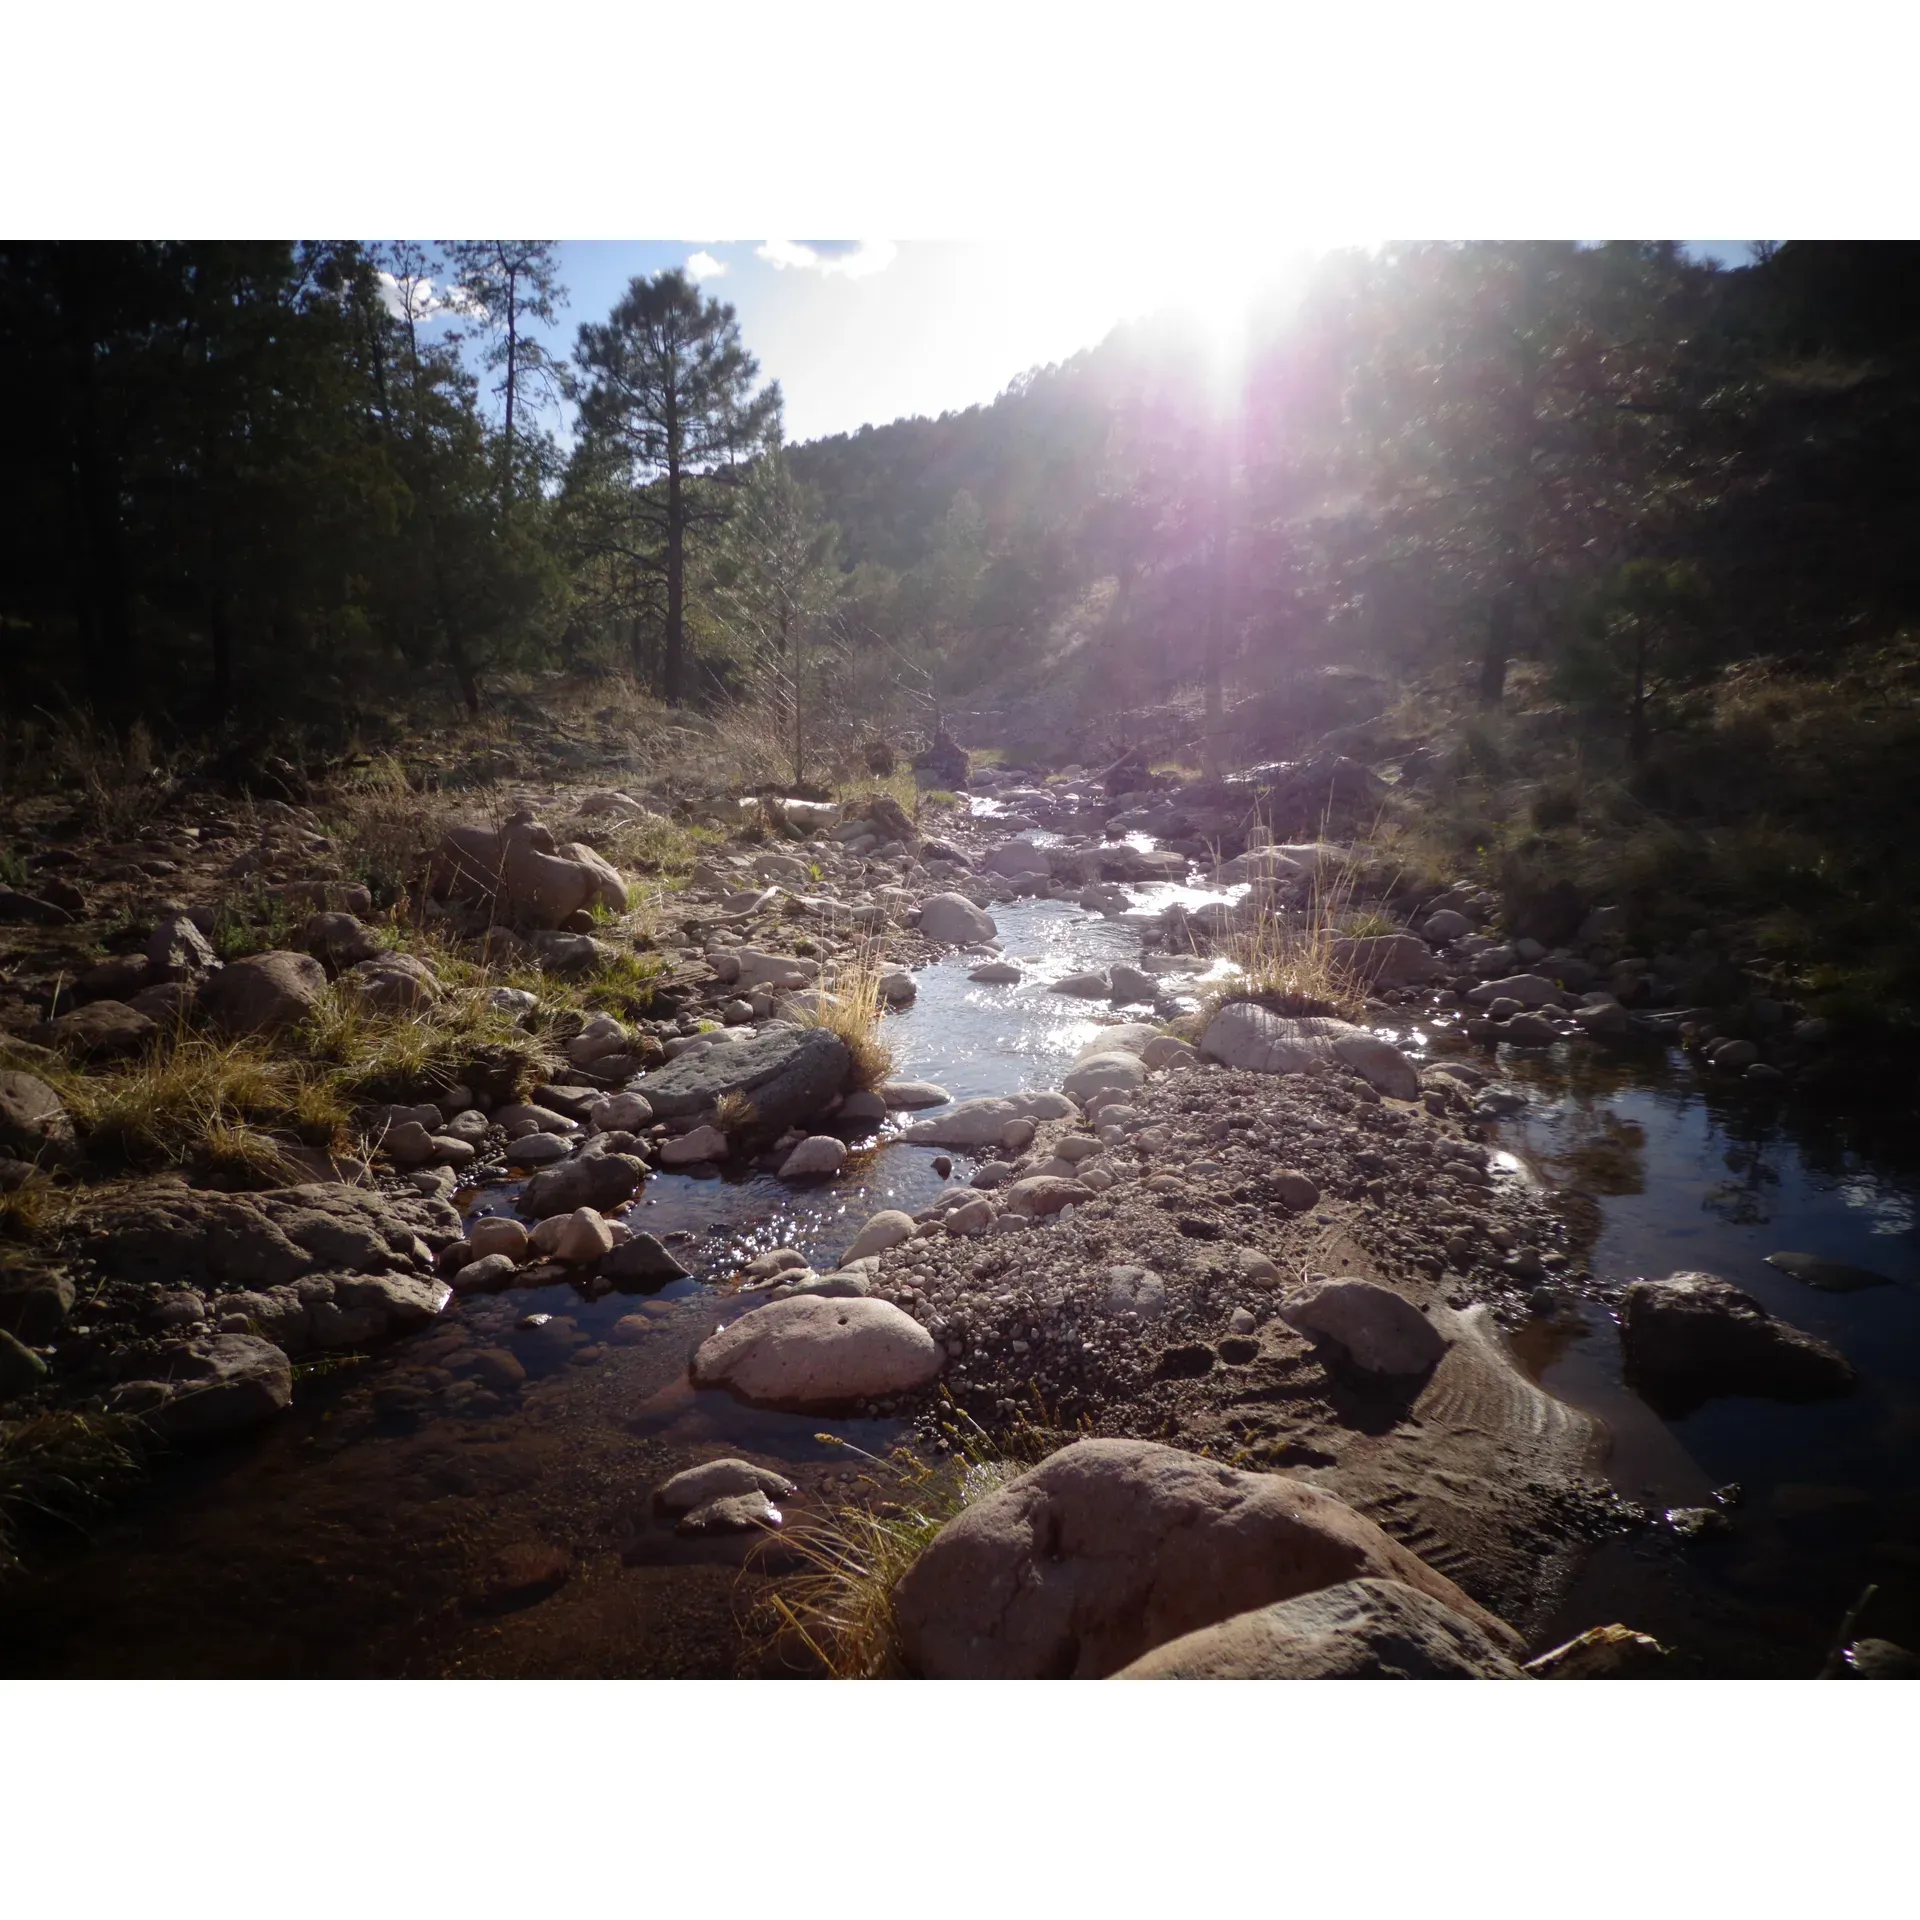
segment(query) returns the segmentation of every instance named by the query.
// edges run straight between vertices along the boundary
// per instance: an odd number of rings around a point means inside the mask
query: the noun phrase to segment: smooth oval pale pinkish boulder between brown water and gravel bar
[[[833,1407],[912,1392],[939,1377],[941,1350],[885,1300],[797,1296],[722,1327],[693,1356],[697,1386],[730,1386],[770,1407]]]

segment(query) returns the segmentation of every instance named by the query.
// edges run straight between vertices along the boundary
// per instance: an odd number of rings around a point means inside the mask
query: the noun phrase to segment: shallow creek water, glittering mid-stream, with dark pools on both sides
[[[914,1006],[887,1018],[897,1075],[937,1081],[956,1098],[1058,1085],[1114,1012],[1050,995],[1048,983],[1137,960],[1140,920],[1173,899],[1227,897],[1169,885],[1129,895],[1135,914],[1116,920],[1050,900],[995,908],[1023,985],[968,981],[977,956],[922,970]],[[1428,1043],[1419,1031],[1402,1039]],[[1709,1402],[1668,1423],[1622,1384],[1605,1309],[1526,1327],[1515,1340],[1523,1363],[1607,1421],[1609,1471],[1626,1496],[1667,1509],[1699,1505],[1726,1482],[1743,1490],[1724,1534],[1680,1542],[1638,1530],[1605,1544],[1555,1626],[1571,1634],[1624,1619],[1682,1645],[1718,1636],[1740,1649],[1734,1670],[1812,1672],[1847,1605],[1878,1578],[1884,1597],[1862,1632],[1916,1644],[1920,1156],[1910,1127],[1707,1089],[1678,1054],[1567,1054],[1503,1062],[1526,1106],[1501,1125],[1500,1144],[1519,1177],[1576,1196],[1592,1269],[1603,1279],[1720,1273],[1839,1346],[1862,1382],[1841,1402]],[[50,1546],[0,1603],[0,1670],[733,1672],[743,1548],[678,1540],[649,1515],[647,1494],[697,1457],[747,1450],[783,1463],[808,1501],[862,1465],[843,1442],[883,1453],[904,1434],[897,1421],[755,1411],[693,1390],[685,1375],[693,1346],[730,1317],[707,1279],[770,1246],[795,1246],[824,1269],[877,1208],[922,1208],[970,1173],[962,1158],[943,1179],[933,1148],[864,1139],[872,1150],[829,1187],[649,1177],[626,1217],[684,1235],[670,1244],[693,1269],[649,1298],[584,1300],[568,1286],[467,1296],[440,1327],[307,1377],[292,1413],[259,1438],[171,1465],[90,1540]],[[478,1206],[511,1208],[511,1187],[482,1188]],[[1895,1284],[1814,1292],[1764,1265],[1780,1248],[1870,1267]],[[636,1311],[653,1323],[637,1338]],[[522,1327],[536,1313],[551,1317]],[[509,1357],[449,1390],[444,1363],[476,1346]],[[574,1576],[528,1605],[555,1584],[545,1571],[559,1538],[574,1542]]]

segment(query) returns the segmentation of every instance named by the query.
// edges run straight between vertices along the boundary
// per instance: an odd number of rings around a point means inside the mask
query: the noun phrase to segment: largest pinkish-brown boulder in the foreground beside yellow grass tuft
[[[1505,1622],[1346,1501],[1148,1440],[1079,1440],[948,1521],[895,1592],[927,1678],[1104,1678],[1181,1634],[1359,1578]]]

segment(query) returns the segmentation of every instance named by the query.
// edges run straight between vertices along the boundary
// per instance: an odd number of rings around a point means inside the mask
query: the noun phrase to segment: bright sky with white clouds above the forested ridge
[[[1726,265],[1743,240],[1690,248]],[[636,275],[687,267],[739,313],[741,338],[785,394],[789,440],[991,401],[1016,374],[1096,346],[1165,305],[1231,313],[1315,248],[1188,244],[1179,271],[1106,234],[1081,240],[564,240],[568,305],[547,344],[572,351]]]

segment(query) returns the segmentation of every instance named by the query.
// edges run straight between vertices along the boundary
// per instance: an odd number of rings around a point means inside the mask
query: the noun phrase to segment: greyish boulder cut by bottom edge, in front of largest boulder
[[[1473,1620],[1398,1580],[1338,1586],[1236,1613],[1154,1647],[1116,1680],[1523,1680]]]

